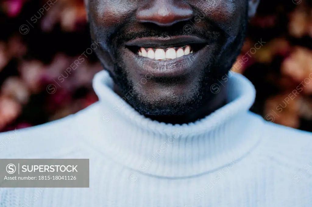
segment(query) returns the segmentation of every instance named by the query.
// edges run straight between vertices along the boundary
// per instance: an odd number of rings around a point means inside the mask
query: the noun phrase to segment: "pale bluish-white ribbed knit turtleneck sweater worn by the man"
[[[244,76],[232,74],[228,84],[228,104],[172,125],[140,115],[99,72],[99,102],[17,130],[0,152],[2,159],[90,159],[90,187],[1,188],[0,206],[312,207],[311,133],[249,112],[255,89]]]

